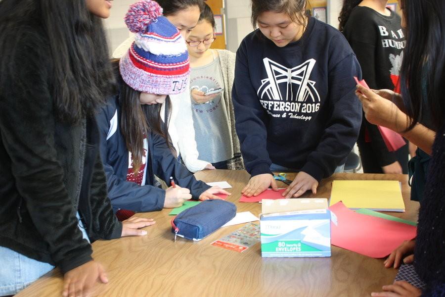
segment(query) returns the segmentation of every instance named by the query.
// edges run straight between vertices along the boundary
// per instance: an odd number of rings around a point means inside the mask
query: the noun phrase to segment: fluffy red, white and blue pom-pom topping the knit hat
[[[132,4],[125,15],[125,23],[133,33],[144,34],[147,26],[162,15],[162,7],[153,0],[143,0]]]

